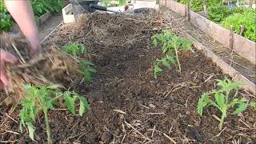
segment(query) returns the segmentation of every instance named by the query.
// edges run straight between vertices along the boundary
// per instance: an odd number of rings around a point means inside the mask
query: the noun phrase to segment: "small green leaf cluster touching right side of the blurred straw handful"
[[[80,63],[80,70],[82,71],[83,76],[87,83],[90,82],[91,74],[97,72],[97,70],[93,66],[94,66],[94,64],[90,61],[82,61]]]

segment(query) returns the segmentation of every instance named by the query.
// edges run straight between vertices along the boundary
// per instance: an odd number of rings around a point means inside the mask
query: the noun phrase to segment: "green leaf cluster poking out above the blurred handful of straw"
[[[82,54],[86,54],[86,47],[83,46],[82,43],[74,42],[70,45],[62,46],[62,50],[68,54],[73,55],[74,57],[81,56]]]

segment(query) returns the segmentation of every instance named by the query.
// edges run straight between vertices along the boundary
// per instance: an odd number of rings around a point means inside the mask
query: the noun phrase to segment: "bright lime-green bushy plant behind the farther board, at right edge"
[[[223,20],[222,26],[226,29],[230,29],[230,26],[234,27],[234,32],[239,34],[240,26],[245,26],[243,36],[254,42],[256,42],[256,27],[255,27],[256,15],[254,10],[245,10],[242,14],[232,14]]]

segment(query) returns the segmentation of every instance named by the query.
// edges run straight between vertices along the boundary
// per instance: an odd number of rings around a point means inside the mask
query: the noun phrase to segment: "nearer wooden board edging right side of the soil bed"
[[[203,46],[200,42],[198,42],[196,39],[190,36],[190,34],[185,34],[185,35],[186,35],[186,38],[190,38],[192,40],[193,46],[198,50],[202,50],[202,52],[206,57],[211,58],[212,61],[215,62],[216,65],[222,69],[222,72],[224,74],[228,74],[230,75],[230,77],[234,78],[234,82],[242,82],[243,88],[245,90],[250,91],[254,95],[256,94],[256,86],[253,82],[250,82],[248,78],[240,74],[237,70],[234,70],[233,67],[231,67],[226,62],[224,62],[222,58],[219,58],[211,50],[206,48],[206,46]]]

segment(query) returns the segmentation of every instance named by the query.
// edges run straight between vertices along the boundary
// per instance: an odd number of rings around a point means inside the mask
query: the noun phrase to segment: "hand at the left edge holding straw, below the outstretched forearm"
[[[0,81],[4,87],[8,87],[10,83],[5,70],[6,63],[14,64],[16,62],[18,62],[18,59],[13,54],[0,49]]]

